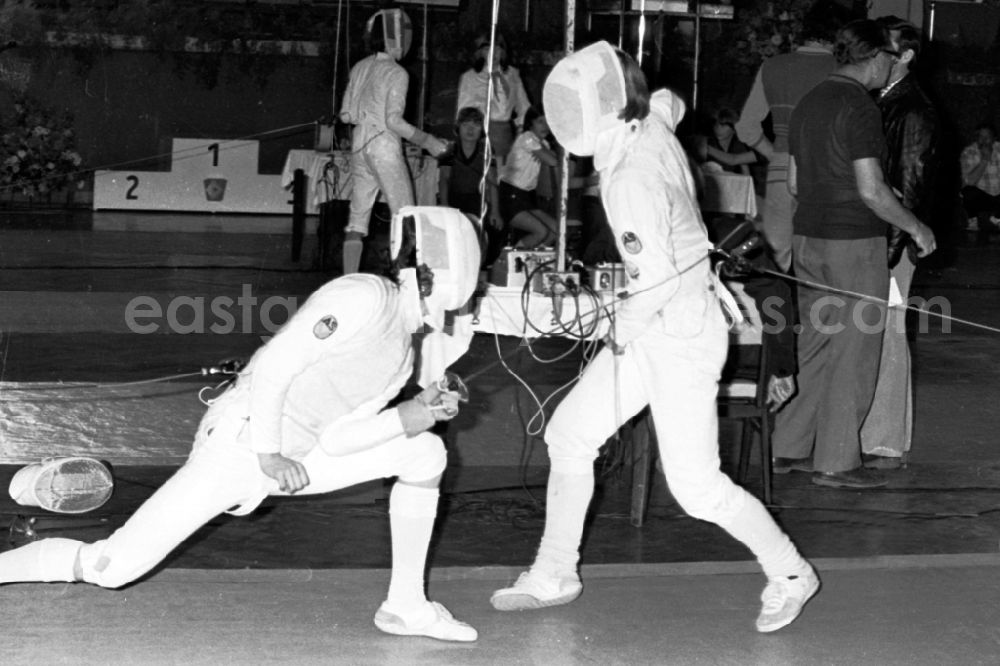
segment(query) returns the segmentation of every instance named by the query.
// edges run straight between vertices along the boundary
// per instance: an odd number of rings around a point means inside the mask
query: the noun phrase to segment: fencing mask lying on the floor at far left
[[[93,458],[50,458],[19,469],[9,490],[22,506],[38,506],[56,513],[86,513],[110,499],[114,479],[110,470]]]

